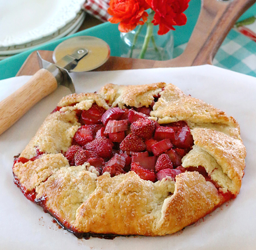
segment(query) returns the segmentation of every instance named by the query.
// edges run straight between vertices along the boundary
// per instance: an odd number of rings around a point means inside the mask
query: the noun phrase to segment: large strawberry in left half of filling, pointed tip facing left
[[[99,137],[85,144],[85,149],[96,152],[99,157],[111,158],[113,143],[105,137]]]

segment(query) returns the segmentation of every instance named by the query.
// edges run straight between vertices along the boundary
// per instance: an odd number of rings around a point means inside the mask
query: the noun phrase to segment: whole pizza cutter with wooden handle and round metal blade
[[[0,134],[21,118],[32,106],[49,95],[58,85],[75,87],[69,72],[84,72],[98,68],[110,57],[108,44],[90,36],[72,37],[60,43],[53,52],[50,63],[41,58],[41,69],[20,89],[0,102]]]

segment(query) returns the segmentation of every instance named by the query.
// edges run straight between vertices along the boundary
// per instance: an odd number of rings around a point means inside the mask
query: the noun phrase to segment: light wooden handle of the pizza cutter
[[[20,119],[38,101],[57,89],[55,77],[40,69],[29,81],[0,102],[0,134]]]

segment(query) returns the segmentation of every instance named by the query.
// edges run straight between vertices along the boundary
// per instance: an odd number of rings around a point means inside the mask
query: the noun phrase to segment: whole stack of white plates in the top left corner
[[[75,33],[84,0],[0,0],[0,60]]]

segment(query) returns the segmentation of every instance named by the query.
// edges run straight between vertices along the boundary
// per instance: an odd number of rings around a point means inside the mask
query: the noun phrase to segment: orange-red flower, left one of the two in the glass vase
[[[120,32],[129,32],[147,20],[148,13],[145,12],[150,6],[145,0],[111,0],[108,13],[113,17],[108,19],[111,23],[119,23]],[[141,20],[142,19],[142,20]]]

